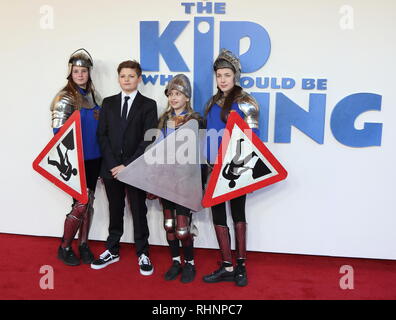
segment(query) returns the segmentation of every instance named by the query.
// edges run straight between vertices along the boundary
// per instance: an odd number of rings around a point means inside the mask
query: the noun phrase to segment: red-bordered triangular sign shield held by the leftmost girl
[[[33,169],[74,199],[88,202],[79,111],[74,111],[33,161]]]

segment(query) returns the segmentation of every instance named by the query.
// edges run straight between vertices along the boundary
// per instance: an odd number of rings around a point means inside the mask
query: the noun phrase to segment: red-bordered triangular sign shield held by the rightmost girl
[[[240,115],[232,111],[202,205],[211,207],[286,177],[285,168]]]

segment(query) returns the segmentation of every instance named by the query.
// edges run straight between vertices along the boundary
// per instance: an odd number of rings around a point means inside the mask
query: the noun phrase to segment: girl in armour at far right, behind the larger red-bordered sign
[[[207,130],[221,132],[226,126],[231,111],[237,112],[250,128],[258,134],[259,107],[255,99],[244,92],[240,86],[241,65],[239,59],[229,50],[222,50],[214,62],[218,91],[209,100],[205,110]],[[213,167],[218,147],[211,146],[207,140],[207,160],[209,167]],[[231,186],[230,186],[231,187]],[[231,216],[235,229],[236,268],[232,263],[230,233],[227,226],[225,202],[211,207],[213,224],[216,231],[222,256],[221,267],[212,274],[204,276],[208,283],[220,281],[235,281],[238,286],[247,285],[246,261],[246,195],[230,200]]]

